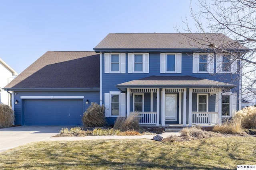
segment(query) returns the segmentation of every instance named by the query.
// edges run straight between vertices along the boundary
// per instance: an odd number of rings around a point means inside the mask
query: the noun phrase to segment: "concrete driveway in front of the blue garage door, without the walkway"
[[[16,126],[0,129],[0,152],[30,142],[45,141],[57,135],[62,127],[74,126]]]

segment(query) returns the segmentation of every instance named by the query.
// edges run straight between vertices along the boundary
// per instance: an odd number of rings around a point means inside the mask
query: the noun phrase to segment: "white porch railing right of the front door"
[[[212,111],[192,111],[192,124],[217,124],[218,112]]]

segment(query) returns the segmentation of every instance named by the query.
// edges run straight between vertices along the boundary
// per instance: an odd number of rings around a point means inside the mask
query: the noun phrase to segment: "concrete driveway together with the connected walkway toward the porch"
[[[74,126],[17,126],[0,129],[0,152],[38,141],[76,141],[96,139],[153,139],[156,135],[141,136],[86,136],[86,137],[52,137],[59,134],[63,128]],[[170,135],[180,135],[178,132],[164,132],[163,138]]]

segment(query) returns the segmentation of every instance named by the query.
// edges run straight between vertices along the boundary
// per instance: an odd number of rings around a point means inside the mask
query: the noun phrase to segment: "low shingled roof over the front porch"
[[[192,76],[150,76],[116,85],[122,91],[126,88],[233,88],[225,82],[196,78]]]

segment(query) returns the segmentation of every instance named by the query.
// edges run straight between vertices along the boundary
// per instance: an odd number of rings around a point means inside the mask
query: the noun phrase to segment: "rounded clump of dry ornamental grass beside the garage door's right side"
[[[100,127],[106,125],[105,107],[92,104],[82,117],[84,127]]]

